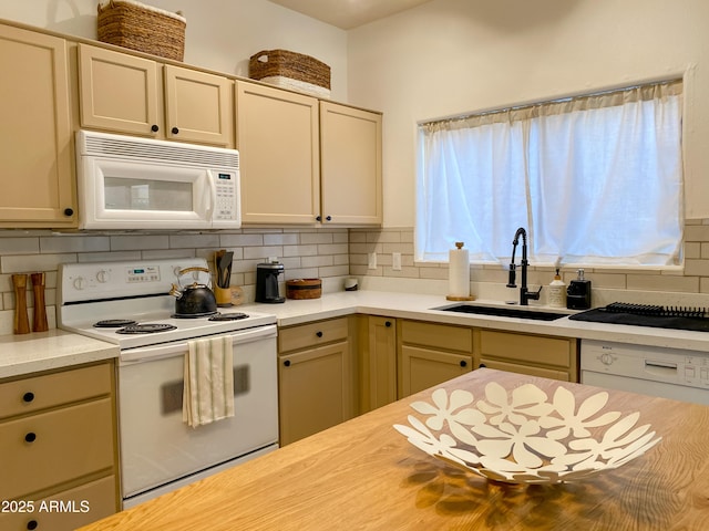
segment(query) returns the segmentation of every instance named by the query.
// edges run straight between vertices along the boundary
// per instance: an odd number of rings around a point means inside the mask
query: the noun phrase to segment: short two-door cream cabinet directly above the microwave
[[[234,82],[79,44],[81,126],[234,146]]]

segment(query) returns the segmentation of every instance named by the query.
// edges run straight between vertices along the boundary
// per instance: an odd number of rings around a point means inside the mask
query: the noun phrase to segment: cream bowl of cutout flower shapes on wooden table
[[[394,425],[413,446],[448,464],[510,483],[558,483],[618,468],[657,445],[650,425],[636,426],[639,413],[603,412],[608,393],[576,405],[557,387],[552,399],[533,384],[512,391],[497,383],[472,393],[435,389],[432,403],[411,407],[410,426]]]

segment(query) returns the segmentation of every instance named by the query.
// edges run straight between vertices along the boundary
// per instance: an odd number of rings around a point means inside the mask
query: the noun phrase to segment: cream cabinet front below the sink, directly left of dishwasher
[[[578,382],[578,341],[475,330],[475,366]]]

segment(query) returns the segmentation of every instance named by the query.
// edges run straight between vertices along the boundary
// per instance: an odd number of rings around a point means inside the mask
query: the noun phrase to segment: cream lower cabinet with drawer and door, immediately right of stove
[[[278,331],[280,446],[354,416],[350,319]]]

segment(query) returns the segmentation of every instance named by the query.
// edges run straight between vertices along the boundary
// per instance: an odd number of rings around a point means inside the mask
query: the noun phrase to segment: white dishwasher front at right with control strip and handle
[[[593,372],[709,389],[709,353],[700,351],[583,340],[580,369],[582,382]]]

